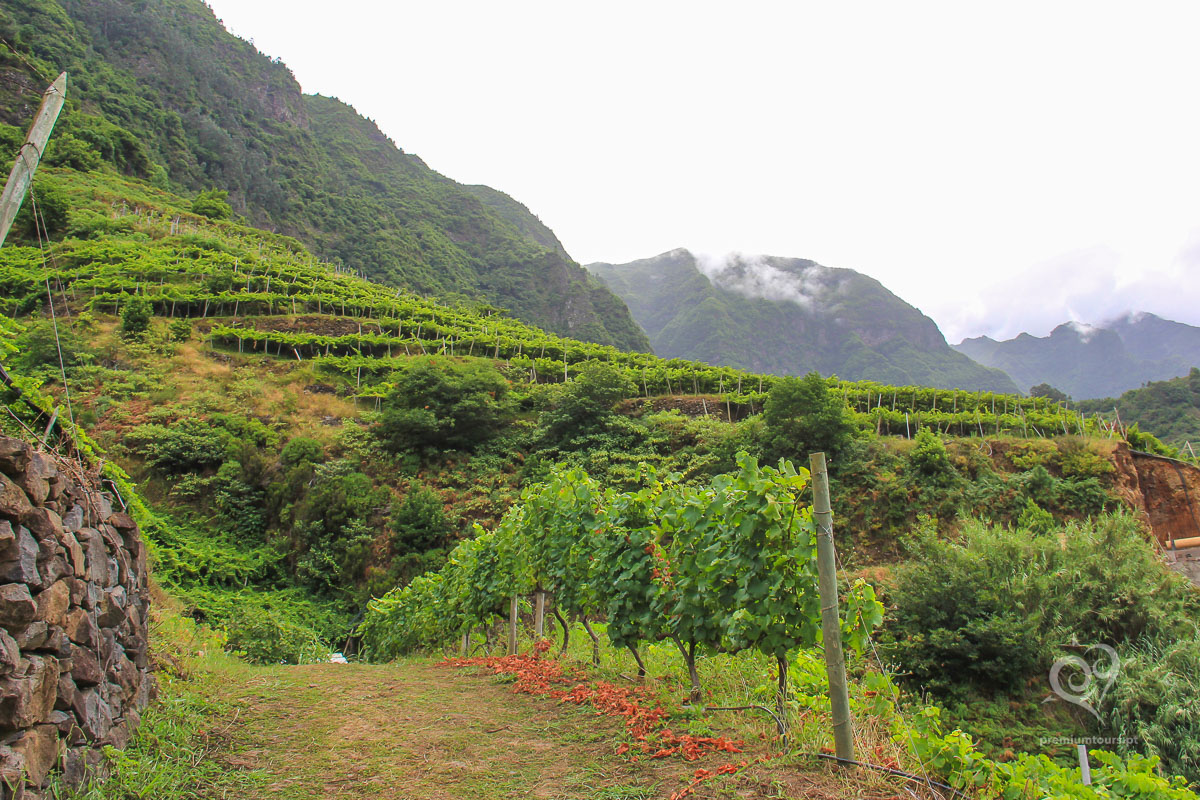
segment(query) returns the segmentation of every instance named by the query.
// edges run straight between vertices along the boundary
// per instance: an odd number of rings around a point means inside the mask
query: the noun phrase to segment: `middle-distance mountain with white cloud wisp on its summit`
[[[625,301],[664,357],[1016,391],[1006,374],[950,350],[931,319],[853,270],[770,257],[708,264],[686,249],[588,269]]]

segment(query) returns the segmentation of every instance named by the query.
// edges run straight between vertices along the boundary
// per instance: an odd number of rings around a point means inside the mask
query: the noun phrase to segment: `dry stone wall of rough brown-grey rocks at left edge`
[[[146,549],[94,476],[0,437],[0,796],[102,770],[155,692]]]

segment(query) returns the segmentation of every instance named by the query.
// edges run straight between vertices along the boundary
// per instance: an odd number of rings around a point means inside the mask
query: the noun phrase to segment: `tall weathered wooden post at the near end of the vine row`
[[[812,519],[817,523],[817,588],[821,594],[821,634],[829,705],[833,710],[834,754],[854,760],[854,730],[846,687],[846,657],[841,651],[841,619],[838,614],[838,557],[833,546],[833,510],[829,506],[829,473],[824,453],[809,456],[812,470]]]

